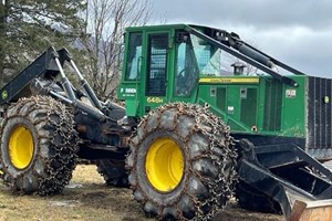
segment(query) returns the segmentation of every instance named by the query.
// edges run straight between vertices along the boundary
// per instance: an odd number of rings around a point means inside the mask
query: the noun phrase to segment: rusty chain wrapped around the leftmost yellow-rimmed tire
[[[29,106],[28,106],[29,104]],[[22,109],[23,107],[29,107],[28,109]],[[73,114],[63,105],[62,103],[46,96],[32,96],[29,98],[20,98],[17,104],[12,104],[9,107],[12,115],[7,116],[3,124],[13,117],[28,116],[32,112],[40,108],[39,115],[42,115],[40,119],[32,122],[34,126],[44,122],[45,125],[42,126],[43,130],[51,128],[54,133],[50,136],[45,134],[40,134],[42,131],[37,131],[38,143],[41,139],[48,139],[49,151],[51,156],[45,158],[42,157],[40,152],[37,152],[31,165],[34,165],[37,160],[42,160],[44,165],[44,172],[46,177],[41,177],[37,171],[32,170],[32,173],[38,177],[39,188],[37,193],[41,196],[59,193],[63,190],[64,186],[69,183],[72,171],[76,166],[76,152],[79,150],[79,136],[74,129]],[[24,113],[23,115],[21,113]],[[30,120],[31,122],[31,120]],[[2,131],[1,131],[2,134]],[[60,136],[60,140],[55,139],[55,136]],[[38,144],[39,145],[39,144]],[[20,173],[17,178],[6,172],[6,168],[0,164],[0,170],[4,171],[4,182],[11,187],[11,189],[19,193],[24,193],[22,190],[13,187],[12,180],[20,180],[22,183],[19,187],[23,187],[23,177],[25,173]],[[17,185],[18,186],[18,185]]]

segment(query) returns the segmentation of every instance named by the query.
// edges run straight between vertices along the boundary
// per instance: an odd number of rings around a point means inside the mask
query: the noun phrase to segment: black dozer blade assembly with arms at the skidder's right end
[[[278,202],[287,221],[332,221],[329,168],[293,144],[240,146],[239,178]]]

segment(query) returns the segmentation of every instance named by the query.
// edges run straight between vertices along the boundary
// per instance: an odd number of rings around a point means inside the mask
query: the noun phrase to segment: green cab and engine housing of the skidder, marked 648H
[[[118,98],[132,117],[172,102],[209,104],[232,131],[288,135],[281,107],[289,103],[284,108],[295,108],[303,101],[283,94],[304,93],[303,87],[295,92],[303,77],[289,75],[303,74],[224,30],[186,24],[128,28]],[[299,116],[291,122],[302,124]],[[291,136],[303,133],[298,129]]]

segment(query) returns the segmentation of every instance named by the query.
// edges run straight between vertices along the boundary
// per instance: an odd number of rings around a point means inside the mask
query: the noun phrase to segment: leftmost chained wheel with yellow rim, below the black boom
[[[1,128],[0,170],[14,192],[53,194],[75,168],[77,135],[63,104],[51,97],[21,98]]]

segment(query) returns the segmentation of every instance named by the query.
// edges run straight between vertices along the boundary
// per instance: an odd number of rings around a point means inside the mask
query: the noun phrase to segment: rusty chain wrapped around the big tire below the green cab
[[[195,118],[195,126],[191,128],[191,131],[185,138],[185,140],[183,140],[184,143],[188,141],[190,136],[197,131],[204,134],[210,140],[209,149],[207,149],[200,156],[197,156],[196,158],[194,158],[193,161],[195,161],[199,157],[210,158],[211,161],[214,162],[214,165],[218,165],[218,168],[221,169],[221,171],[218,172],[217,178],[215,180],[210,180],[210,179],[204,178],[199,172],[195,171],[195,169],[193,169],[193,166],[189,164],[188,170],[190,170],[196,177],[198,177],[200,179],[200,181],[205,186],[208,187],[209,193],[211,196],[209,199],[206,199],[205,201],[199,202],[199,200],[195,196],[190,194],[186,188],[184,189],[184,192],[190,197],[193,202],[195,202],[197,212],[195,214],[195,218],[193,218],[191,220],[197,220],[197,221],[198,220],[210,220],[219,209],[224,209],[226,207],[226,204],[229,202],[229,199],[234,196],[235,187],[238,181],[236,168],[235,168],[237,165],[237,160],[236,160],[237,152],[234,148],[234,143],[232,143],[234,139],[229,135],[230,128],[228,126],[226,126],[219,117],[217,117],[216,115],[214,115],[211,112],[208,110],[208,108],[209,108],[208,105],[205,105],[203,107],[197,104],[170,103],[170,104],[159,106],[154,112],[151,112],[148,115],[144,116],[137,127],[137,130],[139,128],[144,128],[144,130],[146,130],[148,118],[155,113],[158,114],[158,117],[157,117],[158,125],[156,126],[155,129],[158,129],[159,119],[160,119],[163,113],[168,109],[172,109],[172,108],[175,108],[177,110],[177,114],[174,117],[173,129],[169,129],[169,130],[175,130],[175,128],[177,126],[176,120],[177,120],[178,116],[180,116],[180,115],[187,115],[187,116]],[[132,137],[129,139],[131,150],[127,156],[126,167],[127,167],[127,169],[131,169],[131,170],[135,170],[133,168],[133,162],[136,161],[136,159],[131,158],[133,156],[136,157],[136,155],[132,155],[132,152],[135,151],[136,147],[143,143],[143,137],[139,137],[139,135],[138,135],[139,131],[137,131],[137,130],[132,135]],[[148,131],[148,133],[151,133],[151,131]],[[219,139],[220,137],[224,137],[224,140],[220,140]],[[219,147],[222,147],[222,148],[219,148]],[[185,148],[185,150],[186,150],[186,155],[189,156],[188,148]],[[229,164],[226,164],[227,160],[229,160],[228,161]],[[227,166],[229,168],[227,168]],[[225,171],[228,172],[227,177],[225,177],[225,173],[224,173]],[[137,172],[134,171],[134,175],[137,176]],[[135,178],[135,179],[137,180],[137,178]],[[185,187],[188,187],[188,182],[189,182],[189,179],[186,180]],[[227,183],[227,185],[225,186],[225,183]],[[133,189],[134,192],[136,189],[141,189],[141,187],[138,187],[136,185],[132,185],[131,188]],[[138,200],[138,201],[142,201],[143,203],[145,203],[145,201],[147,201],[148,197],[142,189],[141,189],[141,192],[145,196],[144,196],[143,200]],[[181,196],[179,196],[178,199]],[[149,199],[149,200],[153,201],[153,199]],[[158,203],[157,201],[153,201],[153,202]],[[201,210],[205,206],[210,207],[210,209],[207,213]],[[160,207],[162,211],[163,211],[163,209],[164,209],[163,206],[158,204],[158,207]],[[177,206],[175,206],[175,207],[177,207]],[[177,211],[178,211],[179,220],[188,220],[187,218],[185,218],[183,215],[183,212],[178,208],[177,208]],[[158,219],[160,219],[160,220],[163,219],[162,213],[159,214]]]

